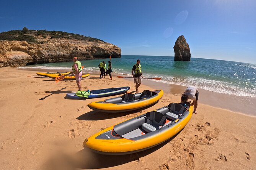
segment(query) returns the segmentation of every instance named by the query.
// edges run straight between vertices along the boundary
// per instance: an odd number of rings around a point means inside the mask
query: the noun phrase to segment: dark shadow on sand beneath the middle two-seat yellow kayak
[[[113,119],[116,117],[121,117],[124,115],[132,114],[132,113],[137,113],[140,111],[143,111],[145,109],[148,109],[149,107],[152,107],[157,103],[151,104],[147,107],[143,107],[141,109],[135,110],[135,111],[129,111],[129,112],[121,112],[121,113],[106,113],[106,112],[98,112],[98,111],[90,111],[85,114],[82,114],[77,117],[78,120],[105,120],[105,119]]]

